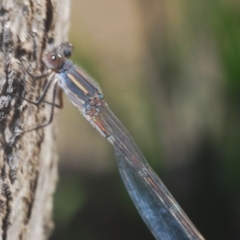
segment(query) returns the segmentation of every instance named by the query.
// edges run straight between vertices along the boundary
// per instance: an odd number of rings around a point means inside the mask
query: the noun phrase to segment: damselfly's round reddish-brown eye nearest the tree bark
[[[57,51],[53,51],[50,53],[47,53],[42,61],[46,65],[47,68],[57,72],[60,69],[62,69],[63,64],[65,62],[65,58],[62,57]]]

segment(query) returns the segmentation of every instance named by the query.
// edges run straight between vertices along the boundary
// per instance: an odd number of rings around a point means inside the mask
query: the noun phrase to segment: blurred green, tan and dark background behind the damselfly
[[[73,61],[206,239],[240,239],[240,2],[74,0]],[[65,101],[51,240],[153,239],[112,146]]]

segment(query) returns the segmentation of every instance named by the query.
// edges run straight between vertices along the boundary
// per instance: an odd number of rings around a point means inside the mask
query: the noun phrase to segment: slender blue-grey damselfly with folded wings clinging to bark
[[[72,51],[73,46],[67,42],[43,58],[50,74],[37,78],[50,76],[38,103],[46,102],[46,92],[53,85],[52,111],[49,121],[34,129],[52,121],[59,86],[87,121],[113,145],[125,187],[154,237],[164,240],[204,239],[149,166],[131,135],[109,109],[97,83],[68,60]]]

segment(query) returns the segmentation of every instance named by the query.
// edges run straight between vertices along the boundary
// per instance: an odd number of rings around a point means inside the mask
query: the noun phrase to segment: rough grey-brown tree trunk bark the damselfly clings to
[[[49,119],[49,106],[35,106],[45,80],[45,49],[66,39],[69,1],[0,1],[0,239],[47,239],[53,228],[57,180],[53,124],[19,132]],[[22,97],[22,98],[20,98]]]

